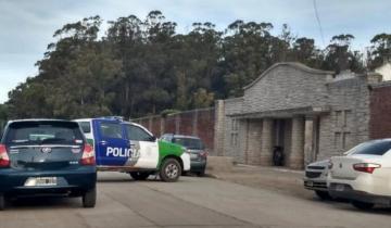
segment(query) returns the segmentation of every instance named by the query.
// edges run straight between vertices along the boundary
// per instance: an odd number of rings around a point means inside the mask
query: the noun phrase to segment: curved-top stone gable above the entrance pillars
[[[279,63],[245,87],[243,112],[324,106],[327,103],[329,72],[298,63]]]

